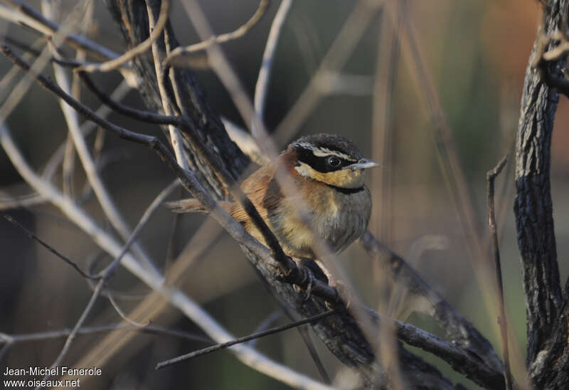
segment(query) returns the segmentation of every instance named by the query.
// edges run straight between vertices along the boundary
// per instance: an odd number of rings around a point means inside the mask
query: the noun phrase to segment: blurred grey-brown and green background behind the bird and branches
[[[41,9],[39,1],[26,3]],[[64,10],[73,3],[60,1]],[[173,3],[171,20],[180,43],[198,42],[180,1]],[[251,97],[270,23],[279,4],[280,1],[272,1],[267,14],[246,36],[223,44]],[[408,0],[406,4],[404,17],[414,26],[423,65],[432,77],[442,112],[454,137],[459,164],[472,199],[472,212],[476,217],[474,228],[487,246],[486,172],[504,154],[511,154],[513,150],[523,75],[536,37],[541,5],[535,0]],[[257,5],[255,0],[201,1],[216,33],[238,28],[250,18]],[[270,130],[277,127],[302,93],[351,9],[353,2],[344,0],[294,2],[280,38],[270,82],[265,113],[265,123]],[[116,52],[124,51],[122,36],[101,1],[95,1],[94,12],[94,25],[88,36]],[[378,14],[350,56],[343,69],[346,80],[351,82],[348,87],[324,97],[294,137],[287,141],[316,132],[336,133],[350,137],[361,147],[363,154],[383,162],[383,167],[368,177],[374,199],[371,230],[394,251],[414,263],[425,280],[472,321],[491,340],[496,350],[500,350],[496,310],[483,293],[484,280],[477,276],[484,275],[481,269],[486,260],[469,251],[468,237],[462,233],[462,217],[453,205],[450,184],[443,173],[433,137],[436,120],[425,102],[425,80],[418,77],[413,56],[405,51],[408,47],[405,41],[398,60],[394,63],[385,60],[391,53],[386,46],[390,42],[385,39],[385,31],[389,31],[385,27],[386,22],[391,23],[390,16]],[[0,20],[0,31],[30,44],[37,38],[34,33],[3,20]],[[390,63],[395,71],[386,70],[385,65]],[[0,75],[5,75],[10,68],[9,61],[0,58]],[[50,67],[44,73],[53,77]],[[198,70],[197,76],[208,95],[209,104],[221,115],[243,126],[238,111],[216,75],[211,70]],[[121,81],[118,73],[96,75],[95,79],[109,92]],[[393,81],[392,97],[378,96],[378,93],[389,90],[386,88],[388,80]],[[81,97],[90,107],[99,106],[88,91],[84,90]],[[382,98],[390,104],[388,120],[385,120],[387,114],[378,117],[383,107]],[[130,92],[124,102],[143,107],[136,91]],[[157,126],[141,125],[119,115],[111,115],[110,120],[138,132],[161,134]],[[568,102],[561,97],[555,120],[551,168],[560,259],[569,251],[569,220],[566,218],[569,211],[569,133],[565,131],[568,121]],[[67,137],[58,102],[37,85],[29,90],[7,123],[26,157],[40,171]],[[93,143],[95,137],[88,140]],[[280,147],[285,147],[285,144]],[[144,209],[174,176],[146,148],[112,135],[105,137],[102,157],[106,162],[102,178],[129,224],[135,226]],[[496,181],[496,213],[513,344],[511,355],[514,374],[521,377],[526,328],[512,211],[513,177],[509,164]],[[55,176],[55,183],[61,184],[60,172]],[[85,183],[79,164],[73,183],[75,194],[79,196]],[[0,150],[0,191],[0,206],[11,197],[31,193],[3,150]],[[83,201],[83,206],[93,218],[111,229],[95,197],[88,196]],[[95,243],[54,206],[40,204],[11,210],[9,215],[84,269],[99,255]],[[166,265],[173,218],[166,209],[159,210],[140,236],[139,242],[161,268],[173,266]],[[205,237],[211,238],[211,245],[198,251],[195,244],[186,244],[204,223],[208,232]],[[237,244],[218,230],[215,223],[206,221],[203,216],[180,218],[174,253],[179,255],[176,262],[185,259],[187,265],[176,283],[230,332],[249,334],[279,310],[279,306],[260,283]],[[0,332],[24,334],[73,327],[91,294],[85,280],[4,219],[0,219],[0,248]],[[487,252],[483,251],[485,255]],[[385,302],[391,292],[388,280],[358,243],[339,257],[350,282],[368,305],[390,310],[390,315],[403,316],[402,320],[444,336],[429,318],[415,314],[408,317],[410,310],[405,308],[408,305],[405,302],[397,310],[386,308]],[[102,256],[100,263],[109,260]],[[568,276],[568,263],[560,261],[560,268],[563,281]],[[130,312],[146,300],[147,305],[142,311],[151,313],[154,325],[201,334],[198,327],[180,312],[157,298],[152,300],[149,290],[127,271],[119,270],[110,287],[130,294],[129,299],[119,300],[124,311]],[[119,320],[109,302],[100,298],[87,319],[87,325]],[[282,316],[275,323],[286,321],[287,318]],[[65,362],[77,364],[108,336],[99,333],[78,337]],[[123,339],[127,333],[117,337]],[[156,362],[206,344],[153,334],[129,334],[129,337],[132,338],[124,346],[97,366],[102,369],[102,376],[85,380],[87,389],[175,389],[180,386],[196,389],[287,388],[241,364],[228,352],[209,354],[154,371]],[[313,339],[326,368],[335,376],[342,365],[327,352],[319,339]],[[50,339],[14,344],[1,357],[0,367],[4,372],[4,367],[49,366],[63,341]],[[296,330],[260,339],[256,345],[292,369],[319,378]],[[444,362],[429,354],[422,356],[436,364],[453,381],[459,381],[469,389],[477,389],[472,382],[454,374]]]

